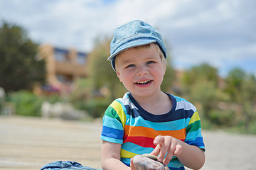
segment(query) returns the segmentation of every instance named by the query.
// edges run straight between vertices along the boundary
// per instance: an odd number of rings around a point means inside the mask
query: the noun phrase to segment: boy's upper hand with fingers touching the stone
[[[182,147],[178,144],[178,140],[171,136],[157,136],[154,139],[154,145],[156,145],[156,148],[150,154],[159,156],[159,162],[163,162],[164,165],[169,164],[173,156],[177,157],[182,152]],[[165,155],[166,158],[164,159]]]

